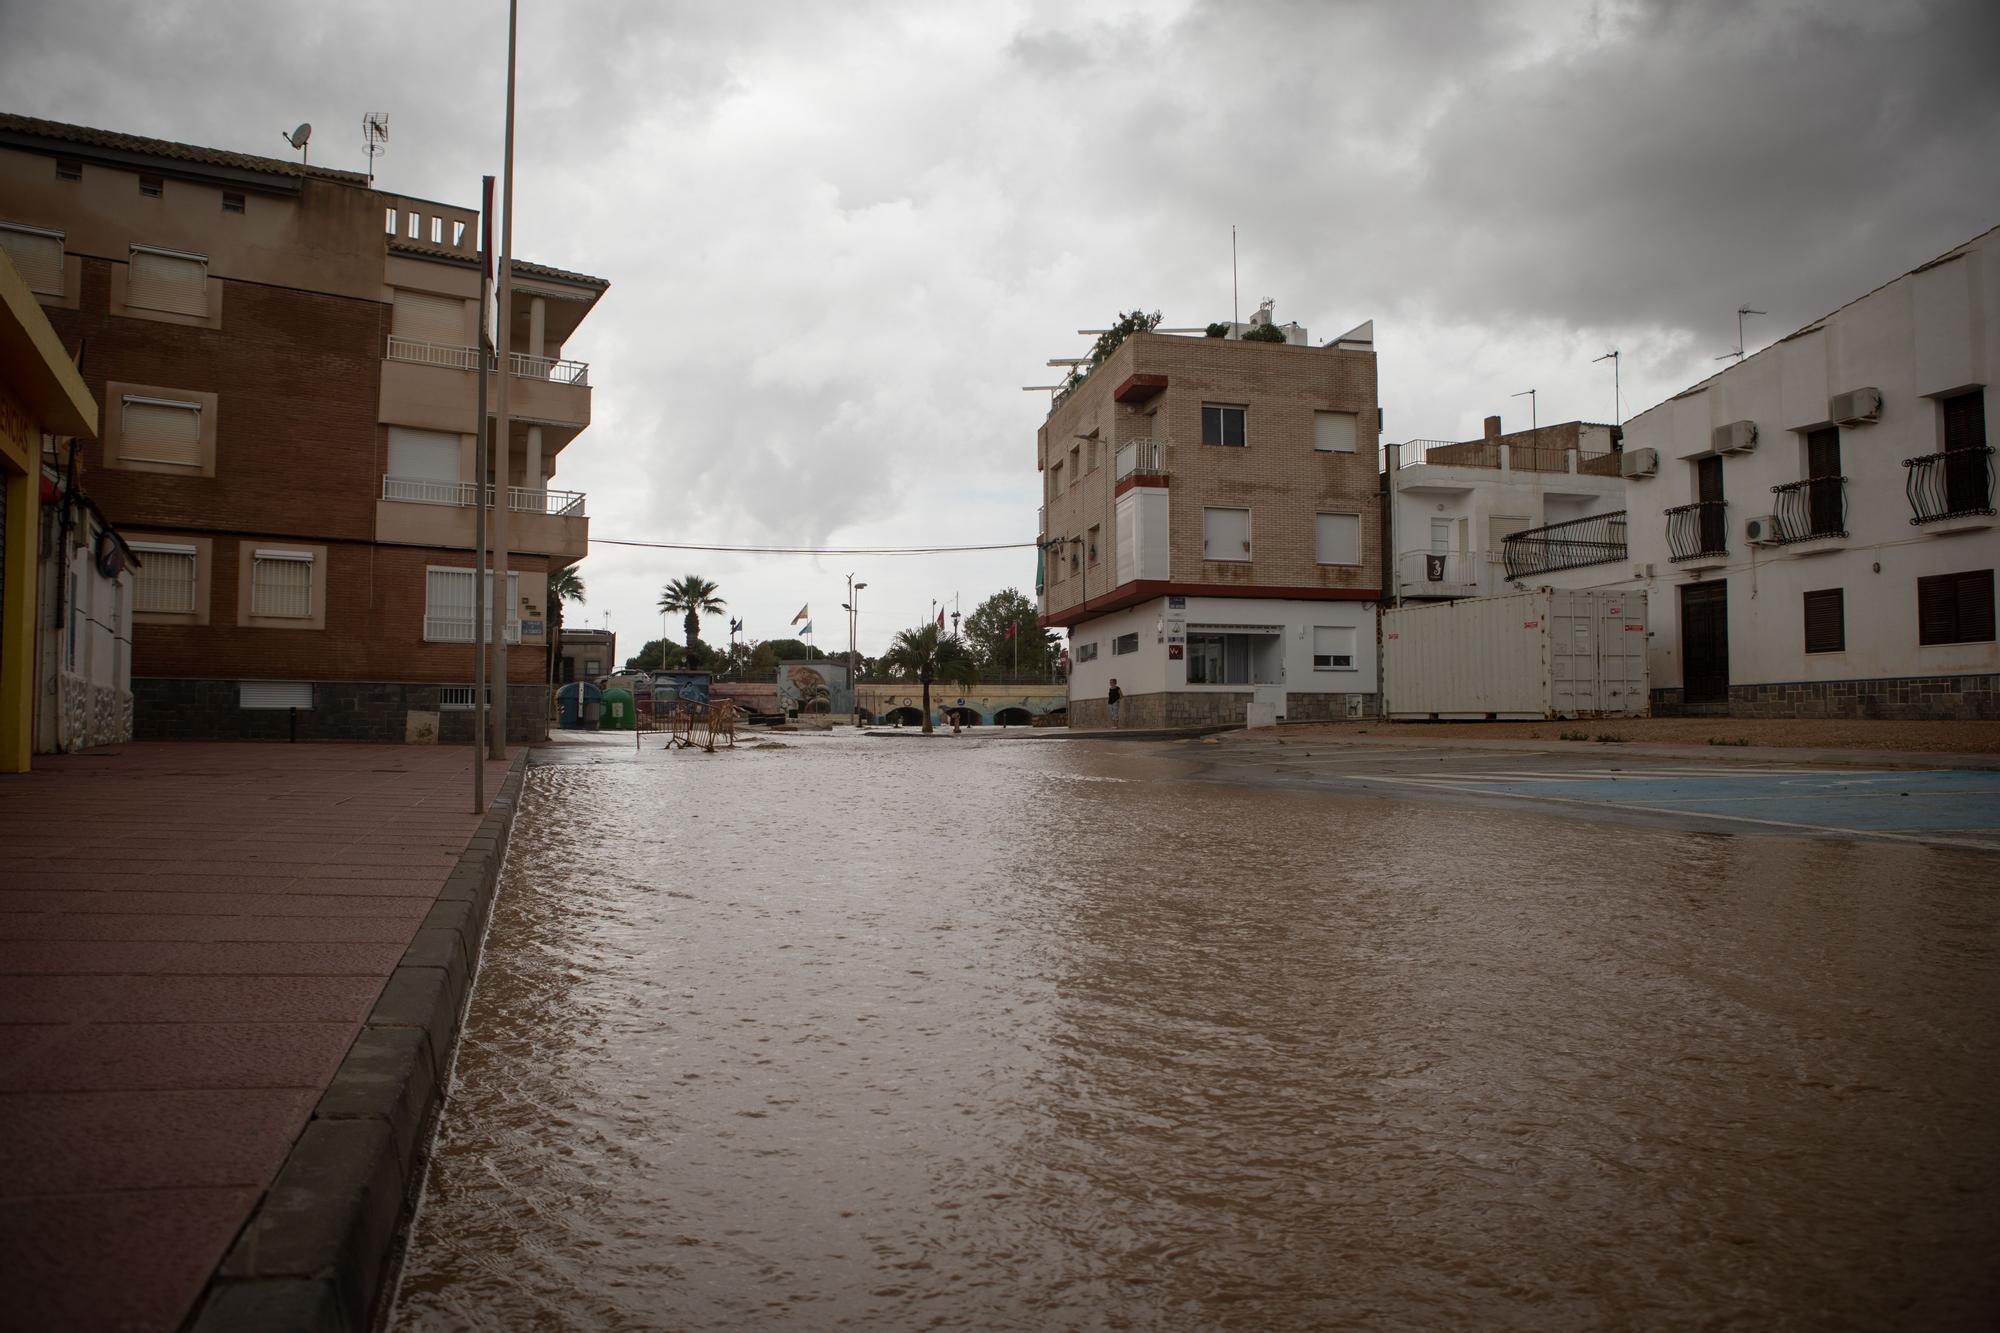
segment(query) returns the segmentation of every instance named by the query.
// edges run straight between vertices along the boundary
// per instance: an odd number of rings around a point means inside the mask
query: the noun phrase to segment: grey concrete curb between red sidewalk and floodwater
[[[424,1183],[526,747],[312,1109],[278,1177],[188,1319],[190,1333],[364,1333]]]

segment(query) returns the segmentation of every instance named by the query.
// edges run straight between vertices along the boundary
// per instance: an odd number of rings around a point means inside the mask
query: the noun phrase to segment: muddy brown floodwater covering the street
[[[798,737],[528,775],[402,1329],[1956,1329],[1996,861]]]

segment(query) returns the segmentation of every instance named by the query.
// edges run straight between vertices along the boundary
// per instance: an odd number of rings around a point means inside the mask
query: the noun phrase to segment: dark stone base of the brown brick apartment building
[[[312,707],[298,711],[300,741],[404,743],[404,719],[412,711],[438,713],[436,685],[386,681],[314,681]],[[244,709],[236,681],[178,681],[136,677],[132,681],[138,741],[288,741],[294,737],[288,709]],[[508,685],[508,741],[548,739],[548,687]],[[472,741],[472,711],[442,711],[440,745]]]

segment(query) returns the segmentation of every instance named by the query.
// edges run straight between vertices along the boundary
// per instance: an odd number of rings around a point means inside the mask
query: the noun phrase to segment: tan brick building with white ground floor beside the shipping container
[[[1070,725],[1370,715],[1382,596],[1372,328],[1326,346],[1138,332],[1036,436],[1042,622]]]

